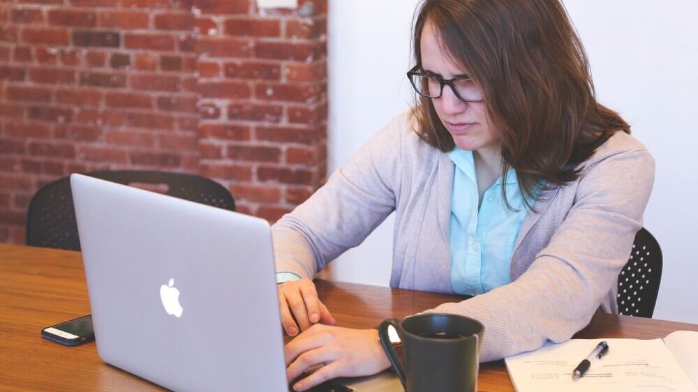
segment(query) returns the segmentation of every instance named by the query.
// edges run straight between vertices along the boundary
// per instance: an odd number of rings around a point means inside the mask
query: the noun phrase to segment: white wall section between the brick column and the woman
[[[413,102],[405,74],[411,63],[410,32],[416,4],[417,0],[330,0],[330,171]],[[361,246],[335,260],[329,276],[387,286],[393,225],[393,216],[389,216]]]

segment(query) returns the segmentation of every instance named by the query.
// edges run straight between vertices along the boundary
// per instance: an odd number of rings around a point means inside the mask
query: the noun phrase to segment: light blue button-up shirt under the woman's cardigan
[[[510,282],[514,244],[526,218],[517,174],[507,171],[507,200],[503,200],[499,177],[485,191],[478,211],[477,180],[473,151],[456,147],[448,153],[456,165],[451,195],[451,286],[458,294],[477,295]]]

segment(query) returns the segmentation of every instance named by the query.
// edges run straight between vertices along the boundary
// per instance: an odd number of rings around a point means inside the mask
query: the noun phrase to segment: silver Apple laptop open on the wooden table
[[[174,391],[288,391],[269,224],[70,176],[97,351]],[[338,379],[402,391],[391,372]]]

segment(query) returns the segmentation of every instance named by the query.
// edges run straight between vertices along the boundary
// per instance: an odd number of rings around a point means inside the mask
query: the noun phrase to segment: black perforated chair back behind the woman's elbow
[[[628,263],[618,276],[618,313],[652,317],[662,280],[662,249],[646,229],[635,234]]]

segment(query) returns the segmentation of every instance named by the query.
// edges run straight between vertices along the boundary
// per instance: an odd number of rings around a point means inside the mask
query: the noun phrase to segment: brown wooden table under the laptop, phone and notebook
[[[341,326],[371,328],[456,296],[318,280],[320,298]],[[64,347],[43,327],[89,313],[78,252],[0,244],[0,391],[162,391],[107,365],[94,343]],[[698,325],[597,314],[579,338],[662,338]],[[478,390],[514,391],[502,361],[484,363]]]

